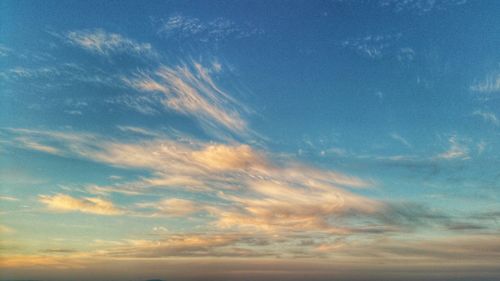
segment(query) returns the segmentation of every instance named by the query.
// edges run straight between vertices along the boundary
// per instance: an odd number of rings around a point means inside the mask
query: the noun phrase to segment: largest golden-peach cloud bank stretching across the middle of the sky
[[[218,197],[219,202],[230,207],[226,210],[214,205],[202,206],[200,201],[194,203],[185,199],[145,203],[140,207],[171,216],[188,216],[202,211],[213,217],[213,225],[222,228],[348,233],[351,231],[348,223],[336,227],[330,220],[351,214],[372,216],[385,206],[377,200],[344,190],[365,188],[372,184],[370,181],[281,158],[246,144],[205,143],[167,136],[119,142],[87,134],[18,132],[28,138],[30,134],[45,135],[47,141],[59,143],[68,157],[144,169],[151,173],[151,176],[137,181],[89,187],[88,191],[94,194],[120,192],[134,195],[160,187],[209,191]],[[60,199],[70,202],[71,206],[83,205],[80,199]],[[85,202],[88,200],[86,198]]]

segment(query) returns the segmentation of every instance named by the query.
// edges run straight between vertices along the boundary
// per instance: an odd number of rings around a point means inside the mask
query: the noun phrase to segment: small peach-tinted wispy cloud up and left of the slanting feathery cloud
[[[129,54],[139,57],[158,57],[158,53],[151,44],[139,43],[123,35],[106,32],[103,29],[76,30],[59,36],[74,46],[103,56]]]

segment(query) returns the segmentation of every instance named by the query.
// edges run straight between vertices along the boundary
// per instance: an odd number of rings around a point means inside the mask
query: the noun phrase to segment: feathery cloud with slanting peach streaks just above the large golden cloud
[[[217,86],[211,70],[198,62],[163,65],[152,73],[139,72],[124,81],[137,91],[161,94],[153,97],[161,106],[196,118],[208,130],[222,127],[236,134],[247,131],[241,114],[248,109]],[[146,112],[151,111],[147,106]]]

